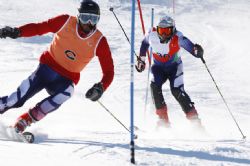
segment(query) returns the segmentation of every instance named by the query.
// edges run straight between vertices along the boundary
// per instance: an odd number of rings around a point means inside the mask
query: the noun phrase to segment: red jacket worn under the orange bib
[[[69,15],[59,15],[41,23],[30,23],[23,25],[19,27],[21,31],[21,37],[43,35],[49,32],[56,33],[66,23],[68,18]],[[78,32],[81,37],[85,37],[85,34],[81,30],[78,29]],[[99,59],[103,72],[101,82],[103,83],[103,87],[106,90],[114,78],[114,65],[110,48],[105,37],[101,39],[99,45],[97,46],[96,56]],[[58,72],[60,75],[72,80],[75,84],[77,84],[80,80],[80,73],[69,72],[62,68],[53,60],[48,51],[43,52],[40,57],[40,63],[47,64],[50,68]]]

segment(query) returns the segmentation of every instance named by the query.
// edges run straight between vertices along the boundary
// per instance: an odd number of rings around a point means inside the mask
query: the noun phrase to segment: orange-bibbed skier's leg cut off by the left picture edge
[[[29,98],[44,88],[41,81],[43,74],[41,65],[27,79],[23,80],[21,85],[9,96],[0,97],[0,114],[10,108],[21,107]]]

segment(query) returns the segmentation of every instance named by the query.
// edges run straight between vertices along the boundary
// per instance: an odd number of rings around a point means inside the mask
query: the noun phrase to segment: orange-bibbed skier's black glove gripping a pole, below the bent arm
[[[103,89],[102,83],[99,82],[99,83],[94,84],[94,86],[87,91],[87,93],[85,94],[85,97],[92,101],[96,101],[102,96],[103,92],[104,92],[104,89]]]

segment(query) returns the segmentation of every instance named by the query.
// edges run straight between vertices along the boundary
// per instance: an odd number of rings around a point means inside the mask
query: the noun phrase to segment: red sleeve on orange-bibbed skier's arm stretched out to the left
[[[56,33],[68,20],[69,15],[59,15],[41,23],[29,23],[19,27],[21,37],[43,35],[49,32]]]

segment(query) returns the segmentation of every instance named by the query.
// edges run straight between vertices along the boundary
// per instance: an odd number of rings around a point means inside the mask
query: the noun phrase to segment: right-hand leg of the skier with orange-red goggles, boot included
[[[183,81],[183,66],[182,63],[178,64],[176,72],[170,77],[171,92],[175,99],[179,102],[182,110],[185,112],[188,119],[197,119],[198,113],[191,101],[189,95],[184,90]]]

